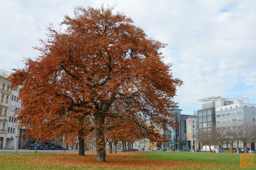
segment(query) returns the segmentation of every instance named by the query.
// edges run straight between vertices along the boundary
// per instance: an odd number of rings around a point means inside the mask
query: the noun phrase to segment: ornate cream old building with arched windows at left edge
[[[7,118],[10,106],[12,84],[7,80],[9,71],[0,70],[0,148],[6,148]]]

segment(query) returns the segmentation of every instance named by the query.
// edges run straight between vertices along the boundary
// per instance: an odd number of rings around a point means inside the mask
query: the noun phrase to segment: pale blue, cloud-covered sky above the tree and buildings
[[[113,5],[136,26],[168,46],[165,63],[184,81],[175,101],[183,114],[201,109],[198,99],[248,97],[256,103],[255,0],[1,0],[0,69],[22,68],[35,58],[45,26],[59,27],[74,6]]]

